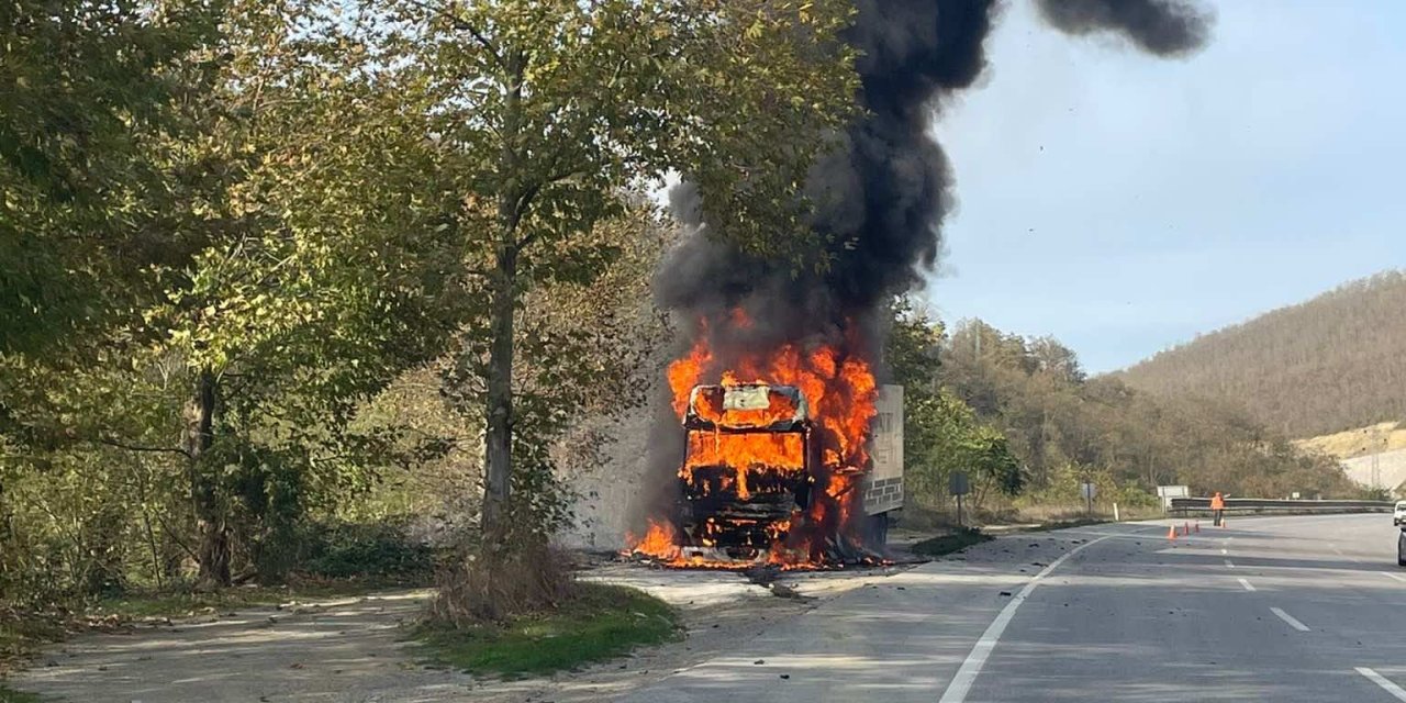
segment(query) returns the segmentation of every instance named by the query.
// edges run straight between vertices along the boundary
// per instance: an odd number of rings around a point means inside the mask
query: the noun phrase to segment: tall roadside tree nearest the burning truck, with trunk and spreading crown
[[[461,377],[485,418],[484,526],[513,485],[517,311],[547,281],[589,280],[591,247],[631,184],[673,169],[717,208],[718,235],[755,247],[801,232],[808,163],[842,127],[853,76],[838,1],[496,0],[363,8],[349,75],[394,90],[432,139],[439,201],[465,232],[482,305]],[[800,236],[800,235],[797,235]],[[785,238],[780,238],[785,240]],[[536,441],[536,440],[534,440]]]

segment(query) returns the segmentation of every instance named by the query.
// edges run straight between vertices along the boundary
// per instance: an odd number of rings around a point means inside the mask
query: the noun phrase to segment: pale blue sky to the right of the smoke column
[[[1406,267],[1406,3],[1222,0],[1159,60],[1015,0],[934,127],[957,212],[927,291],[1091,371]]]

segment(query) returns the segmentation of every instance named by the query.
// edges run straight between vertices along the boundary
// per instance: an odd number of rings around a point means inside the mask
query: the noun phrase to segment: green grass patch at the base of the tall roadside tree
[[[654,596],[603,583],[576,588],[579,595],[553,613],[463,630],[426,626],[415,638],[432,665],[520,678],[574,669],[678,636],[673,610]]]

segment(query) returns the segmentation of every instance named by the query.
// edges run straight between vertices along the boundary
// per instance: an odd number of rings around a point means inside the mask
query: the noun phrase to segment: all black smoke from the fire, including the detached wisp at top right
[[[1069,34],[1116,31],[1159,55],[1177,55],[1206,37],[1206,17],[1159,0],[1038,0],[1042,15]],[[824,273],[797,273],[790,262],[742,253],[709,236],[699,194],[688,183],[671,194],[675,217],[692,235],[654,281],[659,305],[689,339],[704,336],[716,382],[738,359],[782,344],[827,344],[877,366],[889,301],[920,287],[936,263],[941,226],[952,211],[953,176],[929,128],[948,96],[972,86],[986,67],[986,38],[995,0],[858,0],[845,41],[859,52],[858,100],[865,117],[841,135],[807,181],[813,228],[830,262]],[[1019,184],[1012,184],[1019,187]],[[749,325],[734,325],[742,309]],[[647,486],[668,505],[682,457],[679,419],[664,404],[652,433]],[[658,512],[658,510],[657,510]]]

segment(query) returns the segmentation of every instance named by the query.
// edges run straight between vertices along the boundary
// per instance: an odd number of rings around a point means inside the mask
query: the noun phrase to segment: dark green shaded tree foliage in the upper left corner
[[[200,1],[0,7],[0,354],[73,352],[183,254],[152,228],[169,202],[150,139],[180,132],[181,79],[217,41]]]

